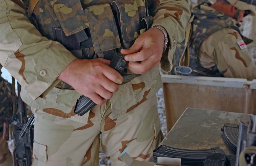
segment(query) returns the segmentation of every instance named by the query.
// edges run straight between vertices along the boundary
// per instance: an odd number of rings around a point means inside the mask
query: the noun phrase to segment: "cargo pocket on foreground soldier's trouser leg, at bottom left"
[[[47,145],[42,145],[34,140],[33,144],[33,158],[39,162],[46,163],[47,161]]]

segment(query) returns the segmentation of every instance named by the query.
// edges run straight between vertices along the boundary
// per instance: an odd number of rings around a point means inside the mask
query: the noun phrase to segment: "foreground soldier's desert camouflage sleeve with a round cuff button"
[[[42,37],[23,4],[15,1],[0,0],[0,63],[35,100],[58,83],[58,75],[76,58]]]

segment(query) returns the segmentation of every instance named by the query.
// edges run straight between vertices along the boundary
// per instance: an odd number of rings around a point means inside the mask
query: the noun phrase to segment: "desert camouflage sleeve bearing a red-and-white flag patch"
[[[249,56],[248,50],[239,47],[242,41],[240,34],[234,29],[221,38],[213,52],[213,58],[219,71],[225,77],[256,79],[256,66]],[[243,44],[240,44],[243,45]]]

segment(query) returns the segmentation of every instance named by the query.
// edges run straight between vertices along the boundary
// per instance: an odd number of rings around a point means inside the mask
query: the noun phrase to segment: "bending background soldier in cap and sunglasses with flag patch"
[[[256,13],[256,2],[254,5],[246,2],[219,0],[213,5],[202,3],[193,8],[195,18],[188,43],[189,67],[203,74],[192,72],[190,75],[256,78],[256,66],[246,48],[249,39],[241,36],[238,29],[238,22],[243,21],[245,12],[252,16]],[[183,46],[177,46],[174,66],[179,65]],[[177,74],[174,70],[171,73]]]

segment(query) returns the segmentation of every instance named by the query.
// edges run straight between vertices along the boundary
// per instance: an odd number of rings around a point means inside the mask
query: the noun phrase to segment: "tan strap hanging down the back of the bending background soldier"
[[[191,33],[192,33],[192,27],[191,27],[191,23],[194,20],[195,15],[193,15],[187,25],[186,25],[186,32],[185,32],[185,46],[184,46],[184,51],[182,53],[182,56],[180,57],[179,60],[179,66],[189,66],[189,49],[188,49],[188,42],[190,40],[191,37]],[[184,65],[183,65],[183,61],[184,61]]]

